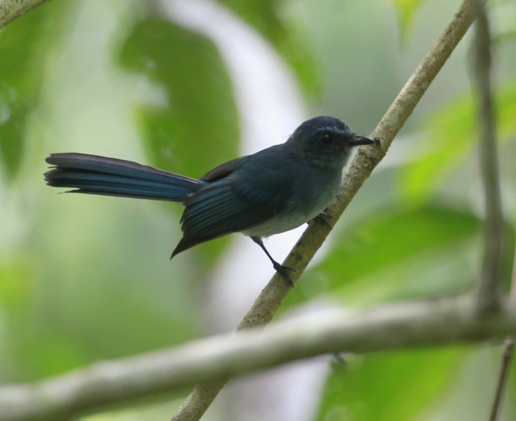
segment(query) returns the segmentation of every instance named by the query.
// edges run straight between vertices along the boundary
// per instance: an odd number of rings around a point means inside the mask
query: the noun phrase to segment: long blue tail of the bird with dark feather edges
[[[206,183],[147,165],[85,153],[53,153],[45,160],[53,169],[45,181],[69,187],[71,193],[183,201]]]

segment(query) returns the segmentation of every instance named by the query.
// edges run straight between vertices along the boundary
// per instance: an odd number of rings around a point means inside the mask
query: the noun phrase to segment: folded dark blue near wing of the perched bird
[[[275,188],[276,187],[276,188]],[[256,183],[225,178],[189,195],[181,218],[183,238],[172,253],[260,225],[284,208],[288,186],[262,189]]]

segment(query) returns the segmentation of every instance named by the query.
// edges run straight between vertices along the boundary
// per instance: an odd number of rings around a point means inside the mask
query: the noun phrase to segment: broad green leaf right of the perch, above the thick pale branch
[[[443,271],[450,263],[462,265],[463,253],[457,252],[464,248],[464,242],[475,238],[481,227],[477,216],[455,209],[424,207],[382,212],[376,217],[366,215],[338,233],[331,252],[303,274],[304,282],[289,293],[282,307],[329,292],[338,292],[345,299],[350,299],[351,293],[361,294],[362,300],[368,296],[365,300],[369,301],[375,295],[392,299],[408,291],[428,293],[426,285],[430,284],[436,293],[443,285],[422,275],[427,275],[430,268]],[[449,253],[451,248],[454,254]],[[415,269],[418,266],[420,269]],[[427,272],[422,274],[421,267]],[[417,279],[423,285],[415,283]],[[444,287],[462,288],[466,280],[463,275],[461,282]],[[407,282],[411,288],[406,287]]]

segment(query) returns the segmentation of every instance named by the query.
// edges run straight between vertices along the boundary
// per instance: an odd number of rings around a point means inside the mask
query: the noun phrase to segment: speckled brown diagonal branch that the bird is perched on
[[[474,3],[475,0],[464,0],[453,19],[444,28],[438,40],[432,45],[378,123],[372,136],[378,136],[381,139],[381,147],[359,149],[344,175],[340,192],[326,211],[333,221],[341,216],[353,196],[371,174],[371,171],[384,157],[394,137],[412,114],[434,77],[475,20]],[[297,282],[310,260],[326,240],[329,232],[330,227],[327,224],[311,224],[303,233],[283,263],[295,270],[292,274],[294,282]],[[273,276],[239,324],[237,331],[267,324],[276,313],[289,289],[281,276]],[[197,385],[172,420],[191,421],[199,419],[222,389],[224,383],[225,380],[209,385]]]

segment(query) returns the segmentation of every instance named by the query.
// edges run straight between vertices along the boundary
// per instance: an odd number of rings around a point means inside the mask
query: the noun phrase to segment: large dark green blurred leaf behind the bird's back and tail
[[[198,178],[238,156],[238,112],[227,69],[207,38],[159,19],[137,23],[122,66],[163,87],[167,105],[140,104],[136,117],[153,164]],[[227,240],[197,247],[216,257]]]

